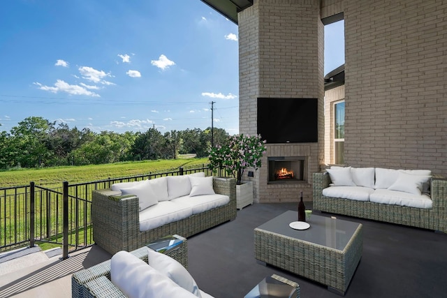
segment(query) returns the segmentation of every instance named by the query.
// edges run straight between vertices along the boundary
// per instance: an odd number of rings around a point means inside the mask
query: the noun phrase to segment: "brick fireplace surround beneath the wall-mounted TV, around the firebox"
[[[312,173],[318,172],[318,143],[266,144],[267,151],[262,160],[262,166],[255,172],[254,200],[258,203],[298,202],[300,191],[304,200],[312,200]],[[269,156],[305,156],[305,181],[293,184],[268,184]]]

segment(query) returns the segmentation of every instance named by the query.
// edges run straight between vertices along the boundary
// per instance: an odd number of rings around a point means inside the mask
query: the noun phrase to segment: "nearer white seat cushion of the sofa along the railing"
[[[162,201],[140,211],[140,231],[159,228],[166,223],[173,223],[187,218],[193,210],[181,202]]]

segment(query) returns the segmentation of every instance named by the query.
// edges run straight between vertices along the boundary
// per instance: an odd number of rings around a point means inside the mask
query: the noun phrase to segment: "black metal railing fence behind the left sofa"
[[[36,241],[41,241],[61,245],[62,258],[68,258],[68,251],[94,244],[91,191],[110,188],[118,182],[194,172],[205,172],[207,176],[212,174],[206,165],[202,165],[80,184],[64,181],[60,188],[45,188],[34,182],[26,186],[0,188],[0,251],[33,247]]]

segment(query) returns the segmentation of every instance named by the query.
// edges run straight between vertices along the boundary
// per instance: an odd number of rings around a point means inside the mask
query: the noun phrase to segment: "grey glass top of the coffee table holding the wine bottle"
[[[360,223],[344,221],[325,216],[312,214],[307,220],[310,228],[307,230],[295,230],[289,227],[289,223],[298,220],[297,211],[286,211],[267,223],[258,226],[257,229],[282,234],[313,244],[319,244],[339,251],[344,251]]]

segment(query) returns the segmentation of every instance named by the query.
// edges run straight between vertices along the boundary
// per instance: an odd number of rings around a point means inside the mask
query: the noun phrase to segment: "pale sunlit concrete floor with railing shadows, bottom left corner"
[[[96,245],[68,255],[38,251],[0,263],[0,297],[71,297],[71,275],[111,257]]]

